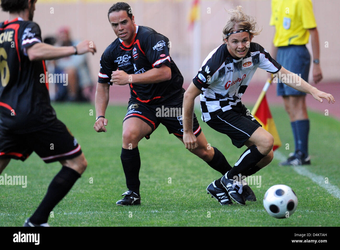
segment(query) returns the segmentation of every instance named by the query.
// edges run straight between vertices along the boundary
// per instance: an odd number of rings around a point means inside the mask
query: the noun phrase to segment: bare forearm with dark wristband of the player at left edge
[[[84,40],[75,47],[77,51],[73,46],[56,47],[45,43],[36,43],[27,49],[27,55],[30,61],[38,61],[58,59],[76,53],[81,55],[86,52],[91,52],[92,54],[97,52],[93,41]]]

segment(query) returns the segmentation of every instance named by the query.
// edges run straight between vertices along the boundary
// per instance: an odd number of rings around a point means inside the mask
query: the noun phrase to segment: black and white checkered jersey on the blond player
[[[232,57],[226,44],[211,51],[192,80],[203,91],[200,95],[202,120],[208,121],[240,102],[257,68],[276,73],[281,67],[257,43],[250,43],[248,53],[239,60]]]

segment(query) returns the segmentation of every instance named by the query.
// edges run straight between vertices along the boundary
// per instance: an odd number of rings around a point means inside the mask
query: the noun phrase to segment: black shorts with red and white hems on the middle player
[[[182,121],[182,105],[183,92],[173,101],[163,105],[148,105],[137,100],[129,101],[128,112],[126,113],[123,122],[126,119],[136,117],[145,121],[152,129],[156,130],[162,123],[168,130],[169,134],[174,134],[179,138],[183,138],[183,121]],[[193,115],[192,132],[197,137],[202,132],[201,126],[198,123],[197,117]],[[149,139],[152,132],[145,136]]]

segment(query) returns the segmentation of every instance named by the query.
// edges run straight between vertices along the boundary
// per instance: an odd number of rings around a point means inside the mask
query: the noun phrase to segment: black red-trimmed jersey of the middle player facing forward
[[[99,83],[109,83],[112,71],[123,70],[128,74],[144,73],[163,64],[171,69],[171,79],[155,84],[129,84],[131,99],[148,104],[166,103],[181,93],[183,77],[170,57],[169,39],[155,30],[136,26],[136,35],[131,44],[126,45],[117,38],[109,45],[101,59],[98,75]]]

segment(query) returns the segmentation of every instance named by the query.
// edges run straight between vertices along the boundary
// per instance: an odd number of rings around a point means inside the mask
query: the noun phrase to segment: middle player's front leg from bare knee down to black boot
[[[148,134],[152,133],[152,129],[145,121],[131,117],[123,122],[123,145],[120,159],[126,179],[128,191],[123,195],[125,197],[116,202],[116,205],[139,205],[139,169],[140,155],[138,150],[139,141]]]

